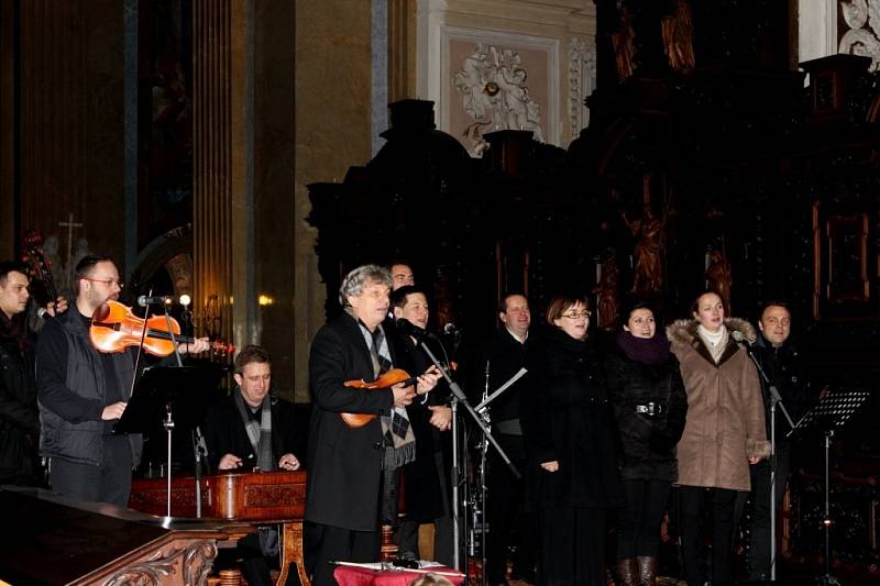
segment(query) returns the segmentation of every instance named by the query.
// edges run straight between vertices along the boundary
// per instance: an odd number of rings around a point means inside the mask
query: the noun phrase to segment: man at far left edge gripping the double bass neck
[[[25,319],[29,285],[26,268],[0,263],[0,485],[33,485],[42,476],[34,335]],[[46,314],[54,317],[55,309],[56,303],[50,303]],[[57,309],[67,309],[63,298],[57,300]]]

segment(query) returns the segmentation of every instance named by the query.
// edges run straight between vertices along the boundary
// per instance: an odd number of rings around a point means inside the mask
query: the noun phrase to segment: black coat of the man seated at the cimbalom
[[[241,392],[238,387],[232,392]],[[275,466],[284,454],[294,453],[294,406],[278,397],[270,397],[272,403],[272,456]],[[257,414],[258,416],[258,414]],[[220,460],[232,454],[242,460],[242,469],[249,471],[256,466],[258,454],[254,453],[241,413],[235,405],[234,395],[223,397],[213,402],[201,428],[205,443],[208,446],[208,464],[211,473],[219,471]]]

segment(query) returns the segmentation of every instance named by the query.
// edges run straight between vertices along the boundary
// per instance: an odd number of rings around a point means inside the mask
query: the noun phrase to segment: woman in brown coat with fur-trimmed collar
[[[692,310],[693,320],[667,329],[688,392],[678,445],[684,570],[688,584],[730,582],[736,494],[750,489],[749,465],[770,455],[758,373],[739,342],[754,342],[756,334],[747,321],[725,319],[713,291],[697,297]],[[713,513],[711,578],[702,542],[706,506]]]

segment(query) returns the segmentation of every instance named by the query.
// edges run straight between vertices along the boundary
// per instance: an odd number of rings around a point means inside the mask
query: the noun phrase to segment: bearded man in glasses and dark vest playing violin
[[[108,256],[88,255],[74,275],[75,310],[50,320],[36,344],[41,455],[50,458],[52,490],[80,500],[125,507],[131,471],[141,457],[140,434],[113,434],[134,380],[136,349],[98,352],[89,340],[95,310],[119,298],[122,283]],[[208,350],[207,339],[180,344]]]

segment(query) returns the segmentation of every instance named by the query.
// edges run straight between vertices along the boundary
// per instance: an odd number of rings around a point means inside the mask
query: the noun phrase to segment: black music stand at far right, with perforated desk
[[[835,390],[831,391],[811,409],[794,428],[789,431],[787,436],[792,434],[816,434],[824,435],[825,447],[825,516],[822,526],[825,529],[825,575],[820,578],[822,584],[837,585],[839,582],[832,575],[832,508],[831,508],[831,465],[829,453],[832,438],[836,430],[853,418],[856,411],[865,405],[871,396],[868,390]]]

